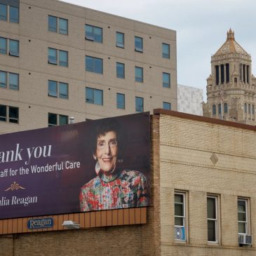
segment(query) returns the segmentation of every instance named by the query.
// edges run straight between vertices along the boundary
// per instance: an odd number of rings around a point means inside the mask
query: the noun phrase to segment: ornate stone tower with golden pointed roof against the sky
[[[203,116],[255,125],[255,85],[252,60],[229,29],[227,41],[211,58],[207,102]]]

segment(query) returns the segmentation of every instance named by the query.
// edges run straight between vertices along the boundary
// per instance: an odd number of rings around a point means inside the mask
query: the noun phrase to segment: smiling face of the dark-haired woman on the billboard
[[[107,132],[105,135],[97,137],[97,148],[95,159],[100,163],[101,170],[111,172],[116,167],[117,142],[114,131]]]

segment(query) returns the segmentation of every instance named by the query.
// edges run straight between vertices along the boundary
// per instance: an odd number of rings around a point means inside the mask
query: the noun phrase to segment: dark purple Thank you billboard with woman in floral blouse
[[[149,205],[150,116],[0,135],[0,220]]]

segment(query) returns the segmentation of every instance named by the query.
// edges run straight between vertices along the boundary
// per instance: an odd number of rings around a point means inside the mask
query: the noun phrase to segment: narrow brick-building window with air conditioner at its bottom
[[[248,200],[238,198],[238,234],[249,234],[248,232]]]

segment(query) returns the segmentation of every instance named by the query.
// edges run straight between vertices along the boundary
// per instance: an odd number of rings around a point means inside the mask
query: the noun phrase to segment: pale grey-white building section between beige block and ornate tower
[[[177,111],[203,116],[203,89],[177,85]]]

